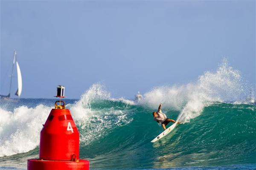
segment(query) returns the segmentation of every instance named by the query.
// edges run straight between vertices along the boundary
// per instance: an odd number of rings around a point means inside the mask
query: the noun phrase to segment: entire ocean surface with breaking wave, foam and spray
[[[92,170],[256,169],[256,105],[239,71],[223,63],[186,85],[154,87],[143,100],[113,98],[94,84],[64,99],[80,132],[80,159]],[[66,91],[67,93],[67,91]],[[55,99],[0,101],[0,169],[26,170],[38,158],[42,124]],[[151,143],[162,128],[152,111],[181,124]]]

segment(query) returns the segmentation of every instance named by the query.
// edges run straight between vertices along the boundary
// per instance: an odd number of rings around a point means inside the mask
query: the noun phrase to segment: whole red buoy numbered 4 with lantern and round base
[[[63,86],[56,97],[64,97]],[[29,159],[27,169],[89,170],[89,161],[79,160],[79,131],[63,101],[55,102],[40,133],[39,159]]]

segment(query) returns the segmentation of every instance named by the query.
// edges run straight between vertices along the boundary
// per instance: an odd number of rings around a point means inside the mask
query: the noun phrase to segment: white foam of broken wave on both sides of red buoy
[[[93,102],[111,99],[110,94],[100,84],[92,85],[78,102],[66,107],[70,108],[73,119],[80,128],[80,140],[89,144],[104,136],[114,127],[127,124],[125,110],[110,108],[92,108]],[[121,99],[118,101],[122,101]],[[124,103],[126,103],[125,101]],[[25,153],[39,145],[40,131],[45,123],[51,107],[38,105],[35,108],[21,106],[14,111],[0,108],[0,156]]]

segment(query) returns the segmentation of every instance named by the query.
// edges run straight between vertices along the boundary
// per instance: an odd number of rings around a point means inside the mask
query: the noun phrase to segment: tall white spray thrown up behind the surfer
[[[144,95],[143,103],[157,108],[163,102],[163,108],[180,111],[178,119],[185,123],[200,115],[212,102],[243,102],[248,95],[247,89],[240,72],[224,59],[217,71],[205,72],[196,82],[154,88]]]

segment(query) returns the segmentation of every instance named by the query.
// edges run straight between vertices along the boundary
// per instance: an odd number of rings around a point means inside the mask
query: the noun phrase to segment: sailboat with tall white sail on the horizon
[[[8,99],[10,98],[11,94],[11,88],[12,88],[12,76],[13,76],[13,69],[16,65],[17,68],[17,82],[18,82],[18,88],[15,93],[15,95],[20,97],[21,91],[22,91],[22,77],[21,77],[21,72],[20,72],[20,65],[17,62],[17,57],[16,57],[16,51],[14,51],[14,56],[13,56],[13,63],[12,63],[12,74],[11,74],[11,82],[10,82],[10,88],[9,88],[9,94],[8,95],[0,95],[1,98]]]

